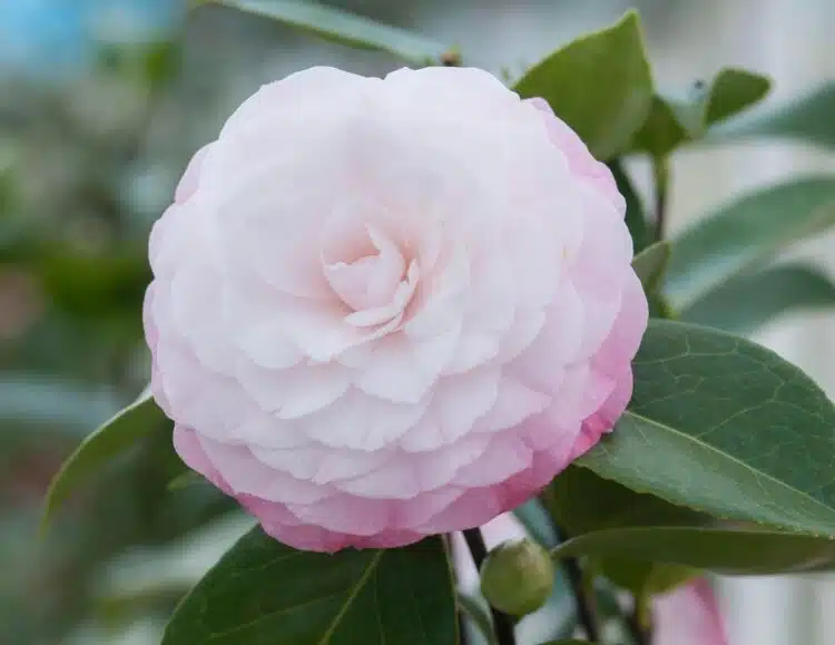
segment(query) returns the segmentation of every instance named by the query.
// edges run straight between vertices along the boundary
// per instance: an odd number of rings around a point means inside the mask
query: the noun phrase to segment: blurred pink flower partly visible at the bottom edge
[[[652,645],[727,645],[714,590],[705,578],[655,600]]]

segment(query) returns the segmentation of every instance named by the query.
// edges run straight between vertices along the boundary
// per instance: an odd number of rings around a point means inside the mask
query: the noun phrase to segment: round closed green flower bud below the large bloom
[[[505,541],[481,565],[481,593],[500,612],[525,616],[546,604],[553,576],[551,557],[537,543]]]

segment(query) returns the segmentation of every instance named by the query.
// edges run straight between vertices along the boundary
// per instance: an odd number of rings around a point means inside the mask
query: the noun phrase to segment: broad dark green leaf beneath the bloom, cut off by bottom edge
[[[163,645],[454,645],[456,629],[440,537],[327,555],[256,528],[186,596]]]

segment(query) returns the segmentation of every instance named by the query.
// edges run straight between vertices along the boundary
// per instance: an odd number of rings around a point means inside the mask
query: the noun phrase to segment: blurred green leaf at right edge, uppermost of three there
[[[734,119],[711,133],[710,140],[749,138],[794,139],[813,146],[835,148],[835,81],[772,110]]]

